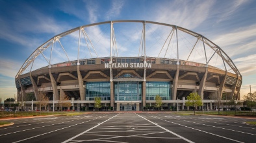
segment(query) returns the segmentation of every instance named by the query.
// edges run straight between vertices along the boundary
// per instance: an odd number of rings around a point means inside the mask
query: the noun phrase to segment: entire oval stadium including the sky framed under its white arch
[[[229,56],[205,36],[177,25],[120,20],[73,28],[40,45],[15,78],[17,102],[34,109],[41,93],[45,110],[188,110],[186,97],[198,93],[201,110],[218,100],[239,100],[242,75]],[[223,103],[222,103],[223,104]],[[223,108],[223,106],[222,106]],[[63,109],[63,107],[62,107]]]

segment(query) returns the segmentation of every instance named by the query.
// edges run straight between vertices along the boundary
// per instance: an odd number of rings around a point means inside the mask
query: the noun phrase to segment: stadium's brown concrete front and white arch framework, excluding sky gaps
[[[116,35],[114,23],[139,23],[142,25],[140,38],[141,56],[118,56],[116,48]],[[164,56],[147,56],[146,49],[146,25],[160,25],[170,27],[172,30],[168,34],[162,47],[156,51],[168,49],[168,41],[175,41],[177,50],[176,58],[166,58]],[[81,58],[81,40],[84,38],[86,45],[90,45],[88,53],[96,52],[95,44],[88,36],[85,28],[97,27],[99,25],[110,25],[109,53],[110,56],[96,58]],[[179,59],[179,32],[186,33],[196,38],[196,43],[192,45],[191,52],[196,45],[201,42],[204,60],[195,62]],[[60,42],[62,38],[73,32],[78,32],[77,38],[77,60],[70,60],[68,52]],[[173,36],[174,35],[174,36]],[[84,37],[83,37],[84,36]],[[172,37],[171,37],[172,36]],[[169,39],[168,39],[169,38]],[[181,41],[180,41],[181,42]],[[53,49],[59,43],[67,57],[67,61],[51,63],[53,59]],[[84,42],[85,43],[85,42]],[[170,42],[169,42],[170,43]],[[167,46],[168,45],[168,46]],[[149,47],[149,45],[147,45]],[[213,52],[207,54],[205,49]],[[162,49],[161,49],[162,48]],[[44,54],[44,50],[49,49],[49,56]],[[152,50],[152,49],[151,49]],[[190,56],[189,54],[189,56]],[[34,61],[42,56],[47,61],[46,66],[32,70]],[[224,69],[210,65],[214,56],[218,56],[224,65]],[[216,62],[215,62],[216,63]],[[227,68],[229,67],[229,68]],[[25,71],[29,71],[25,73]],[[225,54],[218,45],[212,43],[201,34],[192,32],[182,27],[157,23],[153,21],[106,21],[73,28],[46,41],[38,47],[25,61],[16,75],[16,87],[18,91],[18,102],[32,104],[31,99],[27,100],[27,95],[34,96],[33,103],[36,104],[38,95],[46,93],[49,97],[49,104],[46,109],[53,109],[53,103],[58,103],[60,96],[68,95],[71,103],[69,109],[94,109],[94,98],[101,97],[102,109],[112,109],[114,111],[143,111],[155,104],[155,96],[162,98],[162,109],[188,109],[185,106],[186,96],[196,92],[203,98],[203,109],[214,109],[214,103],[219,97],[225,95],[225,100],[239,100],[239,91],[242,84],[242,76],[233,61]],[[59,109],[55,105],[55,110]],[[201,107],[200,107],[201,109]]]

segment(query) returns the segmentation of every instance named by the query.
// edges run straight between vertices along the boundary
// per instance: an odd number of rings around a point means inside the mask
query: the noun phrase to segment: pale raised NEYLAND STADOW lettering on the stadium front
[[[152,63],[105,63],[105,68],[151,68]]]

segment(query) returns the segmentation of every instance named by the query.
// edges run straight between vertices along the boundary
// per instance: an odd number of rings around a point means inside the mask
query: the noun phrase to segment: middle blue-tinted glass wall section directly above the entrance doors
[[[117,82],[114,83],[114,99],[117,101],[142,100],[142,83]]]

